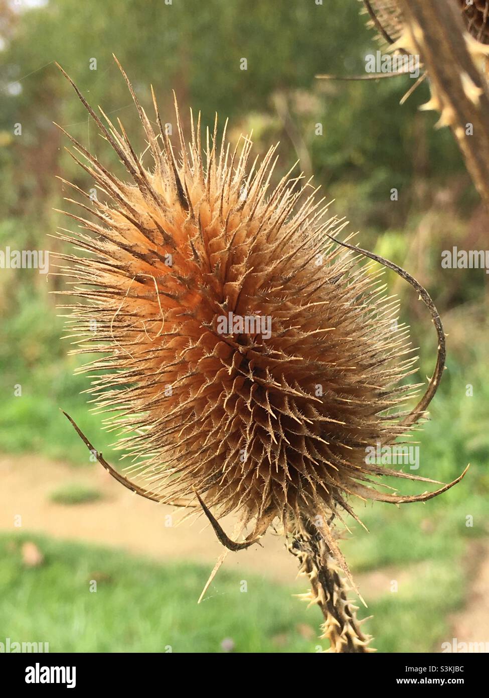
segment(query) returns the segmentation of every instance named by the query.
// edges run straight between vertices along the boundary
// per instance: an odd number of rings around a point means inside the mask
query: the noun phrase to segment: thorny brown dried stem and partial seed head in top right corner
[[[436,126],[453,131],[467,170],[489,205],[489,0],[364,0],[390,50],[419,54]],[[406,96],[411,94],[410,89]]]

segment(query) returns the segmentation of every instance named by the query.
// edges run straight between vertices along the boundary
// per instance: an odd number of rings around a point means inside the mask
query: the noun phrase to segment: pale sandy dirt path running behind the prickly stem
[[[103,499],[71,506],[50,500],[53,491],[73,483],[97,489]],[[158,560],[197,560],[209,565],[209,571],[222,551],[213,530],[202,519],[177,525],[180,514],[175,513],[174,507],[156,505],[133,495],[98,464],[77,468],[40,456],[0,456],[0,529],[16,530],[15,517],[19,514],[23,530],[96,542]],[[172,514],[172,526],[165,525],[168,514]],[[226,517],[221,523],[231,535],[234,519]],[[225,567],[243,574],[253,572],[284,584],[293,583],[296,565],[287,554],[283,539],[267,534],[262,543],[263,547],[230,553]],[[451,618],[453,633],[447,641],[453,637],[458,642],[489,643],[489,545],[476,545],[479,546],[476,558],[481,564],[479,570],[474,570],[467,607]],[[402,570],[388,567],[357,574],[356,582],[363,596],[373,600],[389,593],[391,579],[407,581],[416,572],[419,565]],[[297,584],[302,588],[303,581]]]

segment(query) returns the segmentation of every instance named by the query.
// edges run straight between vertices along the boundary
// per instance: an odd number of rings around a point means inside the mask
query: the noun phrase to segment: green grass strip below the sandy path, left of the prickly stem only
[[[317,644],[301,637],[296,625],[316,628],[320,614],[306,613],[290,588],[223,570],[197,605],[207,567],[157,565],[27,536],[45,563],[24,569],[20,540],[26,537],[0,537],[3,637],[47,641],[51,652],[165,652],[170,646],[173,652],[211,653],[221,651],[225,638],[246,653],[312,652]],[[240,591],[243,579],[246,593]],[[91,580],[98,580],[96,593]]]

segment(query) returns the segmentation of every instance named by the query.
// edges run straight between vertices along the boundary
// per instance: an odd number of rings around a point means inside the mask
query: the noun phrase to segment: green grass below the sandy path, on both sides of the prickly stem
[[[24,568],[20,546],[33,540],[43,565]],[[285,554],[285,551],[284,551]],[[252,574],[221,570],[206,600],[197,599],[209,568],[159,565],[119,551],[57,542],[38,535],[0,536],[1,637],[49,642],[50,651],[218,653],[223,639],[239,653],[310,653],[317,639],[316,608],[292,598],[303,582],[280,586]],[[92,581],[96,592],[90,591]],[[243,580],[247,591],[243,592]],[[384,652],[426,652],[448,637],[446,616],[460,606],[463,580],[436,562],[397,593],[361,609],[374,614],[368,630]],[[313,628],[303,637],[301,625]]]

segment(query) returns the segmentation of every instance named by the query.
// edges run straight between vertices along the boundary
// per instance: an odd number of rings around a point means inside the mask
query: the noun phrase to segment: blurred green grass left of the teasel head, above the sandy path
[[[82,394],[89,380],[73,373],[93,356],[67,356],[73,346],[60,340],[63,322],[56,312],[45,295],[21,288],[3,322],[9,341],[0,343],[1,450],[89,465],[89,451],[60,410],[99,451],[107,451],[115,434],[102,431],[102,417],[89,413],[89,396]]]

